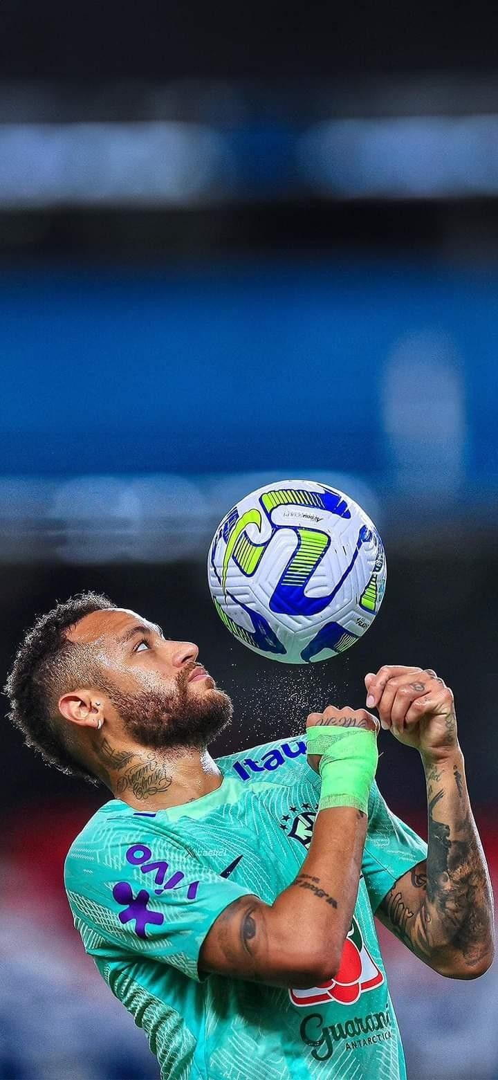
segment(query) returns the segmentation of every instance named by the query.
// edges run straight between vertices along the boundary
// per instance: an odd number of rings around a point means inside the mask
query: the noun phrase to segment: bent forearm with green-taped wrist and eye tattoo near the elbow
[[[308,856],[295,881],[274,903],[243,896],[218,916],[201,948],[201,971],[298,988],[320,985],[339,969],[356,901],[367,825],[366,813],[356,806],[358,786],[367,795],[377,760],[376,754],[371,754],[369,774],[365,774],[362,751],[366,740],[372,743],[371,732],[376,735],[377,720],[364,710],[328,706],[324,713],[308,717],[308,729],[311,727],[325,732],[360,729],[350,740],[349,771],[344,773],[349,781],[339,785],[342,792],[323,800],[327,808],[319,810]],[[328,756],[323,755],[323,760]],[[309,755],[308,760],[318,771],[322,754]],[[324,784],[325,770],[322,794]]]

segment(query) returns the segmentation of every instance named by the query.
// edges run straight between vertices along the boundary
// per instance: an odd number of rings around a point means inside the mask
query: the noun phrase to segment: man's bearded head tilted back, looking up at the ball
[[[37,619],[10,672],[10,718],[45,761],[93,783],[99,743],[203,750],[231,718],[230,699],[197,663],[190,642],[83,593]],[[99,734],[97,734],[99,732]]]

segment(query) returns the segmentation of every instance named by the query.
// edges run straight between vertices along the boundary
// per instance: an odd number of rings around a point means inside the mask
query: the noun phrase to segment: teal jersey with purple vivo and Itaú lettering
[[[162,1080],[404,1080],[374,913],[426,845],[374,784],[336,977],[286,989],[203,975],[202,943],[227,905],[251,893],[272,904],[294,881],[320,797],[304,738],[217,764],[215,792],[157,812],[112,799],[73,841],[65,883],[86,953],[146,1031]]]

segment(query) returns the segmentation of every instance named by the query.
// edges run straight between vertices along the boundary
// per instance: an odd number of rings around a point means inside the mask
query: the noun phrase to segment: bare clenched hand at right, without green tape
[[[388,664],[365,675],[365,686],[367,708],[399,742],[434,760],[458,751],[453,693],[431,669]]]

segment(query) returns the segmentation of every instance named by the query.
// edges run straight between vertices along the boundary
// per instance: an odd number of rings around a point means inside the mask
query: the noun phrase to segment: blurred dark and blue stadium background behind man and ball
[[[381,663],[433,666],[496,882],[496,10],[4,0],[1,22],[4,671],[37,612],[102,589],[199,643],[235,703],[221,753],[361,706]],[[372,631],[312,670],[232,642],[204,570],[232,502],[299,475],[360,501],[389,570]],[[63,891],[106,793],[3,731],[0,1075],[156,1080]],[[425,834],[419,761],[386,735],[379,782]],[[382,940],[412,1080],[496,1080],[496,968],[442,982]]]

